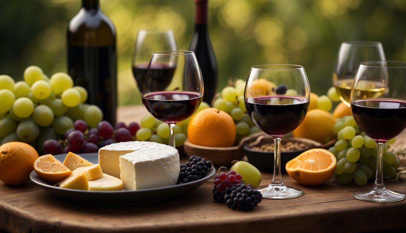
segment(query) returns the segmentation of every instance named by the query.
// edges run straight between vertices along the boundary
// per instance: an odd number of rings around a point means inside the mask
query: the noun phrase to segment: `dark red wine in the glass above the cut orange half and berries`
[[[302,123],[309,101],[301,97],[261,96],[248,98],[245,107],[259,129],[272,137],[282,137]]]

